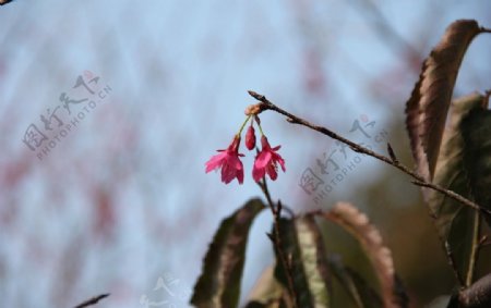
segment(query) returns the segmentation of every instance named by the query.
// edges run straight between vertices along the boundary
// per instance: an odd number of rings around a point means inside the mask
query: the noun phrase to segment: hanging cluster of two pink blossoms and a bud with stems
[[[285,160],[277,153],[277,150],[280,146],[276,146],[272,148],[270,143],[267,141],[266,136],[263,134],[263,130],[261,127],[261,121],[258,114],[261,112],[258,106],[251,106],[246,110],[246,121],[240,127],[239,132],[233,136],[231,144],[225,150],[218,150],[219,153],[213,156],[205,164],[206,164],[206,173],[215,169],[221,169],[221,182],[225,184],[230,183],[233,178],[237,177],[239,184],[243,183],[243,164],[240,160],[240,157],[243,157],[242,153],[239,153],[240,139],[242,135],[242,131],[246,124],[250,121],[251,125],[249,126],[246,133],[246,147],[248,150],[253,150],[255,148],[255,131],[254,131],[254,122],[258,124],[258,127],[261,133],[261,151],[258,149],[258,155],[254,160],[254,167],[252,169],[252,177],[255,182],[260,182],[266,173],[270,175],[271,180],[276,180],[278,177],[278,164],[282,167],[282,170],[285,172]]]

